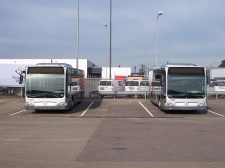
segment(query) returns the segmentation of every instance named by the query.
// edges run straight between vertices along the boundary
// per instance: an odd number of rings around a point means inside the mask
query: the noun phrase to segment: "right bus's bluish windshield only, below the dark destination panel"
[[[205,76],[168,74],[167,95],[171,98],[204,98]]]

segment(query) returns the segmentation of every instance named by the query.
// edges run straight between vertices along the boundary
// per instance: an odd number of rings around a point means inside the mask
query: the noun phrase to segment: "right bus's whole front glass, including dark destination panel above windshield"
[[[170,98],[204,98],[204,68],[170,67],[168,70],[167,95]]]

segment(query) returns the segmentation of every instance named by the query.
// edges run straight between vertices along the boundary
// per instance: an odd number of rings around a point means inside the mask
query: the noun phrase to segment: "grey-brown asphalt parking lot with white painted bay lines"
[[[35,112],[0,97],[0,167],[224,167],[224,102],[162,112],[149,99],[106,97]]]

